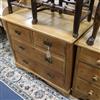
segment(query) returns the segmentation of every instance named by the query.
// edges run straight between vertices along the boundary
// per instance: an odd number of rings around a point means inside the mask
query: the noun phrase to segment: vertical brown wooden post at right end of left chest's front
[[[72,84],[72,78],[73,78],[73,60],[74,60],[74,46],[67,43],[66,44],[66,64],[65,64],[65,88],[68,90],[70,88],[71,91],[71,84]],[[72,67],[69,67],[72,66]]]

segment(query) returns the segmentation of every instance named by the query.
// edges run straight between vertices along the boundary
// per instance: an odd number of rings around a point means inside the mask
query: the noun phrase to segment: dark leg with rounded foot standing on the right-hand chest
[[[94,40],[95,40],[96,35],[98,33],[99,27],[100,27],[100,0],[98,3],[98,6],[97,6],[96,14],[95,14],[93,32],[92,32],[92,35],[87,40],[88,45],[94,44]]]

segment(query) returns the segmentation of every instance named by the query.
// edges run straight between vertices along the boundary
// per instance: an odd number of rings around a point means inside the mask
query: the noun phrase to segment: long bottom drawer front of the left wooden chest
[[[24,68],[29,69],[37,74],[39,74],[40,76],[42,76],[43,78],[45,78],[46,80],[49,80],[50,82],[64,87],[64,76],[54,70],[51,70],[49,68],[46,68],[45,66],[43,66],[42,64],[31,60],[25,56],[22,56],[21,54],[15,52],[16,55],[16,62],[23,65]],[[59,77],[59,79],[58,79]]]

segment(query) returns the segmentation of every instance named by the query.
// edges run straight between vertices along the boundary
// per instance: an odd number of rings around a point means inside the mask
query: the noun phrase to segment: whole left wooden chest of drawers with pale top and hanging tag
[[[37,25],[32,25],[29,10],[25,9],[3,17],[16,65],[68,95],[72,84],[73,44],[76,41],[70,33],[72,17],[63,16],[71,18],[68,23],[56,14],[56,20],[53,20],[51,12],[41,13],[39,17],[41,20]],[[71,27],[68,32],[65,31],[67,24]],[[91,26],[86,21],[82,24],[79,37]]]

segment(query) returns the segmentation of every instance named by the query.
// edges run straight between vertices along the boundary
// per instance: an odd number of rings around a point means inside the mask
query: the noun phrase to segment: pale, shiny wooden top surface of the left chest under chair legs
[[[36,25],[32,24],[32,14],[28,9],[16,11],[13,14],[2,16],[2,19],[11,22],[32,31],[38,31],[43,34],[56,37],[68,43],[74,43],[77,38],[72,36],[73,31],[73,16],[59,15],[58,13],[51,14],[49,11],[40,12],[38,15],[39,21]],[[83,21],[79,29],[79,37],[92,25],[91,22]]]

